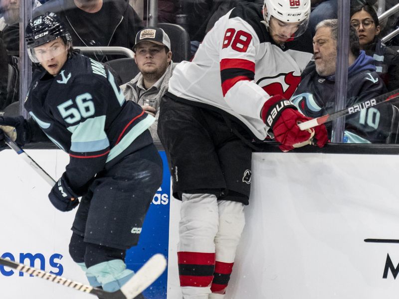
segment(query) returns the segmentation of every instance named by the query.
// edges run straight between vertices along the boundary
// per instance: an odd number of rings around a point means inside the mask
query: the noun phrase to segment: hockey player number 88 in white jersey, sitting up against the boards
[[[324,126],[286,99],[312,57],[310,0],[238,5],[180,63],[161,102],[158,134],[182,200],[178,263],[184,299],[222,299],[244,227],[251,141],[267,136],[288,151],[327,142]],[[300,36],[300,38],[298,38]]]

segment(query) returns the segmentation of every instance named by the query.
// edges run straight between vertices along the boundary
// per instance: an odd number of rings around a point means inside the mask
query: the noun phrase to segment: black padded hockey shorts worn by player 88
[[[242,126],[229,121],[241,136]],[[173,195],[210,193],[248,204],[252,149],[231,132],[217,112],[163,97],[158,135],[165,148]]]

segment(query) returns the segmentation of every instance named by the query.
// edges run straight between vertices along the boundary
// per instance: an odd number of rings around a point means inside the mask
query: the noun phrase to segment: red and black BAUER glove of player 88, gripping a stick
[[[265,102],[262,108],[262,120],[271,128],[274,139],[281,143],[282,151],[289,151],[312,144],[312,139],[320,148],[328,141],[327,130],[324,125],[302,131],[298,123],[311,118],[304,116],[296,107],[281,95],[275,95]]]

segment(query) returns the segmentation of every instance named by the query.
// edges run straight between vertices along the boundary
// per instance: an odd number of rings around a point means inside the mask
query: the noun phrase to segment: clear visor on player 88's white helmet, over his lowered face
[[[270,17],[269,31],[276,42],[285,42],[301,36],[308,28],[309,18],[300,22],[284,22],[273,16]]]

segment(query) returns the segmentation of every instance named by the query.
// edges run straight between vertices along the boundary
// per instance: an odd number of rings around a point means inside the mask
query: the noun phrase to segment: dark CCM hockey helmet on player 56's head
[[[28,54],[37,62],[33,48],[61,37],[67,48],[72,48],[72,37],[64,23],[54,12],[46,12],[29,21],[25,29],[25,41]]]

